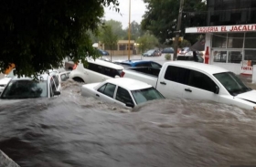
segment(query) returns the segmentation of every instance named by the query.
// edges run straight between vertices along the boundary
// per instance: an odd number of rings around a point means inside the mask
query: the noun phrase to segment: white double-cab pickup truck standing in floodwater
[[[146,82],[165,98],[206,99],[256,110],[256,90],[229,70],[213,65],[172,61],[161,69],[126,68],[121,77]]]

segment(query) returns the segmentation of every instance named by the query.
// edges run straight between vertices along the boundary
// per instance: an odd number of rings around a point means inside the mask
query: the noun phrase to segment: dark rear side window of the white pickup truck
[[[165,79],[181,84],[187,84],[187,72],[188,69],[186,68],[168,66],[165,71]]]

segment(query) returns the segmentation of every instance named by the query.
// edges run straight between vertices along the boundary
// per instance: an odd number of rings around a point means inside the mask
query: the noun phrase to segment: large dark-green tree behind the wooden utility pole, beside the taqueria
[[[178,0],[144,0],[147,11],[142,21],[142,29],[150,30],[161,43],[175,37],[176,20],[178,16]],[[206,11],[207,6],[202,0],[185,0],[182,19],[181,36],[186,36],[191,43],[197,41],[195,35],[185,35],[187,26],[206,26],[207,17],[200,11]],[[198,15],[197,15],[198,14]]]

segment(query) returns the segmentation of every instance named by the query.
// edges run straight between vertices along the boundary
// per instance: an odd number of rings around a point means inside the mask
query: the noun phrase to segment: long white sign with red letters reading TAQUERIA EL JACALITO
[[[235,26],[200,26],[186,28],[186,33],[223,33],[223,32],[248,32],[255,31],[256,25]]]

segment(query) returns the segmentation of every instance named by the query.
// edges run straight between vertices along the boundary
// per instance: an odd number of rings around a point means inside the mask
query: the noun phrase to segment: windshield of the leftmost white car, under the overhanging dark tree
[[[47,81],[11,80],[1,95],[1,99],[29,99],[48,97]]]

